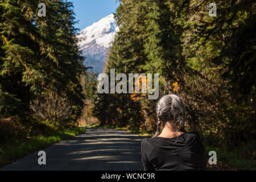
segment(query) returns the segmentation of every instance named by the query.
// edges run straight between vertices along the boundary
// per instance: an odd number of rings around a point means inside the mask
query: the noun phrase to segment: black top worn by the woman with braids
[[[175,138],[144,138],[141,143],[142,163],[148,170],[204,170],[203,143],[197,133],[183,133]]]

